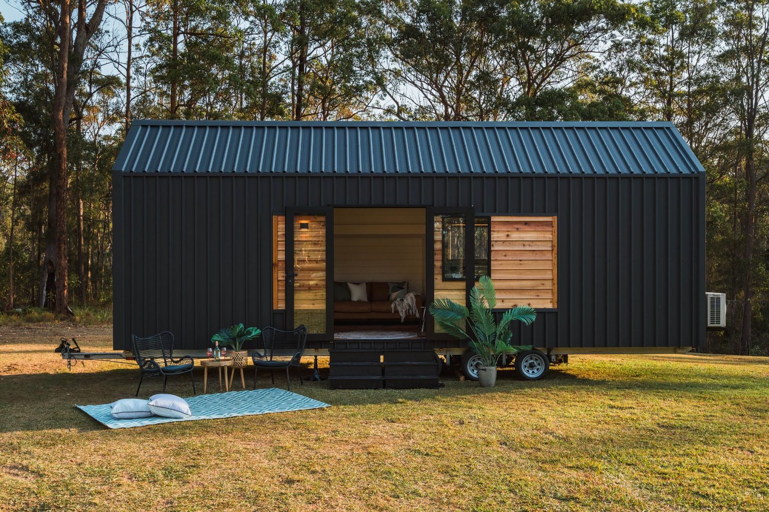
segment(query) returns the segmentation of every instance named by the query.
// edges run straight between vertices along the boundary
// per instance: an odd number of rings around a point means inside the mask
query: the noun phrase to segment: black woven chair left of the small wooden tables
[[[133,345],[134,357],[141,372],[139,385],[136,388],[136,396],[139,395],[141,381],[145,377],[162,375],[163,391],[165,392],[165,383],[168,381],[168,375],[183,375],[185,373],[190,374],[192,394],[195,395],[195,378],[192,376],[195,362],[189,355],[174,358],[174,335],[171,332],[164,331],[149,338],[139,338],[137,335],[131,335],[131,345]]]

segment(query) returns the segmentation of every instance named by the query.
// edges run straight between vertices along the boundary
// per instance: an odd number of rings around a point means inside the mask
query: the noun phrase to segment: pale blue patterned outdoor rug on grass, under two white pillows
[[[325,402],[313,400],[280,388],[254,389],[248,391],[229,391],[213,395],[196,395],[185,398],[190,405],[192,415],[188,418],[137,418],[118,420],[110,414],[111,404],[75,405],[85,414],[109,428],[143,427],[171,421],[210,420],[232,418],[233,416],[265,415],[268,412],[305,411],[321,407],[331,407]]]

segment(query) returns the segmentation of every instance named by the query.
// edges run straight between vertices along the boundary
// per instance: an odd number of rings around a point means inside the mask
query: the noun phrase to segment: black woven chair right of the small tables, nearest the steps
[[[305,352],[307,328],[304,325],[299,325],[293,331],[279,331],[274,327],[265,327],[261,332],[261,339],[265,343],[265,352],[262,354],[254,352],[251,355],[251,359],[254,361],[254,389],[256,389],[256,372],[259,368],[270,371],[273,384],[275,384],[275,370],[285,368],[286,387],[290,391],[291,380],[288,378],[288,368],[294,366],[299,375],[299,382],[304,385],[299,362],[302,352]]]

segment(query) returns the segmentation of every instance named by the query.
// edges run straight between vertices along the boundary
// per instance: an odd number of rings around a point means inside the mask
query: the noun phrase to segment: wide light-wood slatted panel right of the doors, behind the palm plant
[[[491,277],[498,307],[557,308],[557,262],[557,217],[491,217]]]

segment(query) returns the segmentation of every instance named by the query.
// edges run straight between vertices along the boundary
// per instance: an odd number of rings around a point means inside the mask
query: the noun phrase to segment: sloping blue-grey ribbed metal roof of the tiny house
[[[704,172],[672,123],[135,121],[126,173]]]

